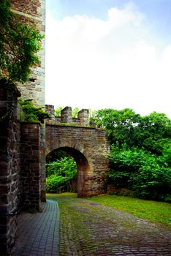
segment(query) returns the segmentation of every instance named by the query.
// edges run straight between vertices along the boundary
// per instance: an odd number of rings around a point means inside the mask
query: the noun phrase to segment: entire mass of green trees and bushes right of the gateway
[[[111,144],[108,182],[134,196],[170,201],[171,120],[163,113],[140,116],[128,108],[94,113]]]

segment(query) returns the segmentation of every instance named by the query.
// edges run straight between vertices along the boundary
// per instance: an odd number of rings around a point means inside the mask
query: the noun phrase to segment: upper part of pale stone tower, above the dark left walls
[[[24,23],[34,23],[41,34],[45,34],[45,0],[11,0],[12,11],[19,15]],[[29,81],[19,84],[23,98],[33,99],[39,106],[45,106],[45,39],[39,52],[40,65],[32,69]]]

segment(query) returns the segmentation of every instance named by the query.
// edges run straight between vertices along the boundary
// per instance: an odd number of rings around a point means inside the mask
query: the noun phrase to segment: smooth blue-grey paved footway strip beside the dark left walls
[[[42,212],[24,213],[18,218],[14,256],[58,256],[58,203],[47,200]]]

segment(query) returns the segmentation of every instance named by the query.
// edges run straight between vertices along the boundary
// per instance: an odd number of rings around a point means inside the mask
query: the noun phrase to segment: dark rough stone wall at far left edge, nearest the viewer
[[[9,110],[7,83],[0,82],[0,117]],[[9,120],[0,122],[0,254],[7,255],[15,243],[16,214],[20,207],[20,123],[17,121],[17,97]],[[11,110],[12,111],[12,110]]]

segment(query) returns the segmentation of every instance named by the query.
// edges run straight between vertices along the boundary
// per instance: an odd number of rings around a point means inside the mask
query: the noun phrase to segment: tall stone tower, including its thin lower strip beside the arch
[[[45,0],[11,0],[12,11],[19,15],[23,23],[34,23],[40,33],[45,35]],[[39,67],[31,69],[29,81],[18,84],[21,97],[33,99],[35,105],[45,107],[45,38],[39,51]],[[41,198],[45,201],[45,126],[41,127],[40,139]]]

